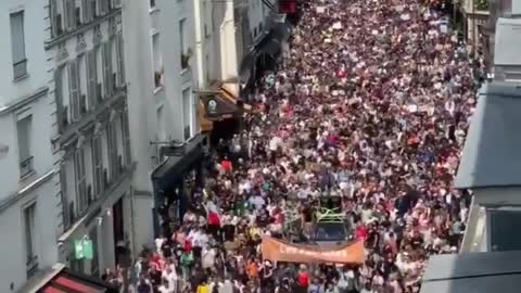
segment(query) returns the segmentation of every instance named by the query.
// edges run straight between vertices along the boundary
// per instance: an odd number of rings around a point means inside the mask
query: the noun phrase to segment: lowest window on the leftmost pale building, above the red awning
[[[38,256],[36,246],[36,203],[31,203],[24,208],[24,232],[25,232],[25,253],[27,277],[33,275],[38,267]]]

